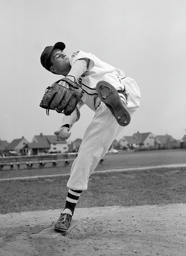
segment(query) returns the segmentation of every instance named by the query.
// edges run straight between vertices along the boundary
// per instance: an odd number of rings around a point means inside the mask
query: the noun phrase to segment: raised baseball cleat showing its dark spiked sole
[[[99,98],[110,109],[118,124],[121,126],[128,125],[130,123],[130,114],[127,111],[126,104],[120,98],[118,91],[106,81],[99,81],[96,85],[96,91]]]

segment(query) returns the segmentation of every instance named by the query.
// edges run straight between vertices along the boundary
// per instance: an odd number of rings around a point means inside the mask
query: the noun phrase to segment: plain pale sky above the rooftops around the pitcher
[[[44,48],[91,52],[121,69],[141,90],[141,105],[116,138],[136,132],[182,139],[186,129],[185,0],[8,0],[0,8],[0,139],[52,135],[63,114],[39,104],[59,80],[44,69]],[[68,142],[83,138],[94,117],[87,106]]]

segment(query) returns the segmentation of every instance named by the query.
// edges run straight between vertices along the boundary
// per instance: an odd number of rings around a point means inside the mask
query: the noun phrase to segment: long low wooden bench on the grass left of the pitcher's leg
[[[39,168],[45,166],[46,163],[52,163],[52,167],[55,167],[58,163],[64,163],[65,166],[74,161],[77,154],[45,154],[45,155],[31,155],[31,156],[16,156],[16,157],[0,157],[0,170],[3,170],[4,166],[10,166],[13,170],[15,166],[17,169],[21,165],[26,165],[28,169],[31,169],[33,165],[39,165]]]

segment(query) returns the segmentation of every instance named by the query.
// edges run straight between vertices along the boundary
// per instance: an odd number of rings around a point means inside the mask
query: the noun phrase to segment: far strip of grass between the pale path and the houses
[[[102,164],[98,164],[95,170],[123,169],[128,167],[157,166],[174,163],[186,163],[186,149],[183,150],[153,150],[119,154],[106,154]],[[36,166],[37,167],[37,166]],[[71,166],[64,167],[62,164],[57,167],[47,165],[47,168],[25,170],[2,170],[0,178],[25,177],[49,174],[70,173]]]

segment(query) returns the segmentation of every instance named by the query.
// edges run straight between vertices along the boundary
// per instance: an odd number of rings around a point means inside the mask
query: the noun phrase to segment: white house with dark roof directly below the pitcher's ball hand
[[[68,152],[65,140],[56,140],[56,135],[35,135],[31,143],[24,147],[24,154],[38,155],[44,153],[66,153]]]

